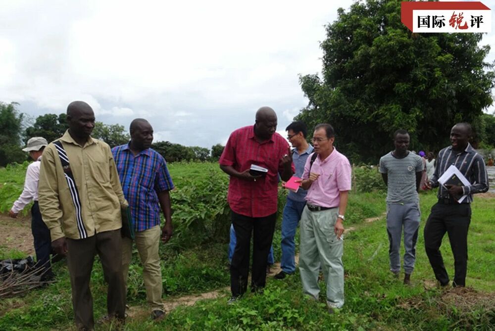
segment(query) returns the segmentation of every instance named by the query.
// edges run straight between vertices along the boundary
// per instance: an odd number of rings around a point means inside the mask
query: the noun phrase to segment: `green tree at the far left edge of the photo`
[[[17,110],[18,103],[0,102],[0,166],[26,160],[21,150],[23,114]]]

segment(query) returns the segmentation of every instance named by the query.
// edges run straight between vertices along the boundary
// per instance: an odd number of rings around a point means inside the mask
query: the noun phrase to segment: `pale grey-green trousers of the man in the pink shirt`
[[[299,272],[302,291],[318,299],[320,265],[327,282],[327,304],[341,308],[344,305],[344,251],[343,236],[334,233],[339,208],[310,211],[304,207],[300,221]]]

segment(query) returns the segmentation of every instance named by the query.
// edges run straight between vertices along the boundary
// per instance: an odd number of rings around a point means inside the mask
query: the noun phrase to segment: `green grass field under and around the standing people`
[[[219,182],[226,183],[216,164],[172,164],[170,172],[178,187],[172,194],[180,194],[183,186],[207,181],[212,176],[220,176]],[[22,187],[22,171],[17,175],[21,177]],[[12,182],[15,176],[0,170],[0,183],[6,183],[7,179]],[[7,195],[2,192],[4,188],[5,184],[0,188],[0,197]],[[197,195],[200,188],[204,189],[200,185],[195,187]],[[346,304],[337,314],[328,315],[324,295],[320,295],[319,301],[302,295],[298,273],[283,281],[269,278],[264,293],[249,293],[228,306],[228,238],[225,237],[196,246],[161,247],[163,298],[167,303],[209,291],[216,291],[216,297],[190,307],[179,305],[157,324],[148,316],[142,269],[134,254],[128,302],[135,313],[127,319],[126,330],[494,330],[495,197],[475,197],[468,236],[468,287],[447,290],[435,286],[423,246],[422,228],[435,200],[434,192],[421,194],[422,221],[411,286],[404,286],[389,272],[385,194],[351,192],[345,224],[352,228],[346,235],[344,248]],[[0,205],[4,205],[1,200]],[[365,220],[374,217],[379,218],[373,222]],[[280,224],[273,244],[277,260]],[[447,238],[442,252],[447,271],[452,275],[453,259]],[[12,251],[8,247],[0,246],[1,258],[9,254]],[[55,272],[56,283],[0,302],[0,330],[74,330],[67,269],[59,263]],[[323,282],[320,285],[323,294],[325,285]],[[97,259],[92,275],[96,319],[105,314],[105,288]],[[113,330],[113,327],[99,325],[97,330]]]

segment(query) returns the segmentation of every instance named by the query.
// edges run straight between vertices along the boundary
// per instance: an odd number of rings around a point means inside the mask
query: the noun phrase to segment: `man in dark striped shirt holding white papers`
[[[458,123],[450,130],[451,145],[438,154],[437,167],[427,187],[438,187],[438,179],[454,165],[471,183],[469,186],[440,185],[438,202],[432,207],[425,225],[425,249],[435,277],[442,286],[449,284],[440,245],[445,233],[454,254],[454,280],[452,286],[465,286],[467,271],[467,232],[471,222],[473,194],[488,191],[488,174],[483,156],[469,143],[472,130],[468,123]],[[458,203],[454,196],[467,195]]]

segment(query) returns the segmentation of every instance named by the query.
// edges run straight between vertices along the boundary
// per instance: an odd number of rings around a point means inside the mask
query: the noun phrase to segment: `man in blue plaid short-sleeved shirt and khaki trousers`
[[[158,245],[172,236],[169,191],[174,188],[163,156],[149,148],[153,141],[153,128],[147,120],[138,118],[130,126],[131,141],[113,147],[112,154],[117,165],[124,196],[129,202],[134,221],[135,242],[146,286],[146,298],[151,307],[151,318],[162,319],[162,279]],[[165,225],[160,231],[160,207]],[[122,272],[127,284],[132,256],[132,240],[122,238]]]

